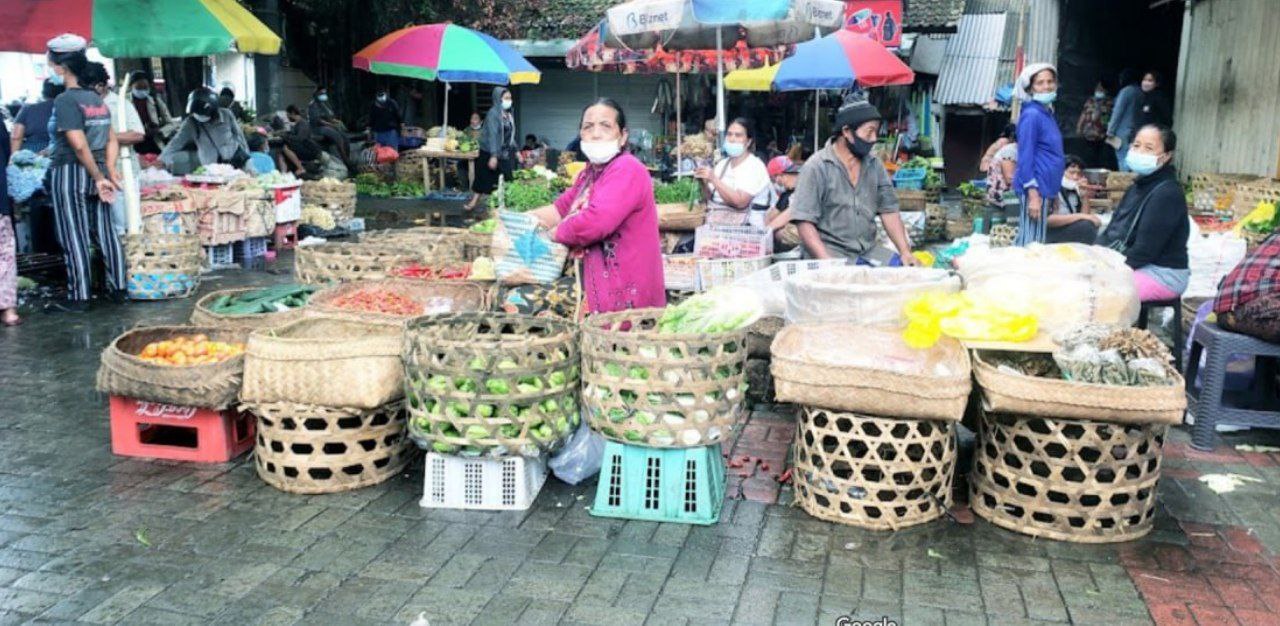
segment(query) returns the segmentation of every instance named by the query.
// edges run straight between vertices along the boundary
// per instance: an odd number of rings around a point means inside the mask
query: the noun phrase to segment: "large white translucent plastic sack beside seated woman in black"
[[[1132,326],[1138,320],[1133,270],[1110,248],[1056,243],[975,250],[955,265],[966,293],[1024,303],[1047,334],[1087,321]]]

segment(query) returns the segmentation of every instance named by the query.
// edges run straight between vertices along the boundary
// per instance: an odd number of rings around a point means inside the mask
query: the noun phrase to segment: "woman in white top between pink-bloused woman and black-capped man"
[[[724,128],[724,159],[713,168],[698,168],[694,178],[704,183],[707,223],[764,228],[769,209],[769,170],[755,156],[751,122],[737,118]]]

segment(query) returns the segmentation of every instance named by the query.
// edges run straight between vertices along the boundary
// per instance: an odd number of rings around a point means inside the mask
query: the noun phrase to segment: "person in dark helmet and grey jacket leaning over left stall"
[[[192,147],[196,148],[195,164],[189,155]],[[182,172],[215,163],[243,168],[248,163],[248,142],[236,115],[218,106],[212,90],[200,87],[187,96],[187,118],[160,152],[160,160],[170,170]]]

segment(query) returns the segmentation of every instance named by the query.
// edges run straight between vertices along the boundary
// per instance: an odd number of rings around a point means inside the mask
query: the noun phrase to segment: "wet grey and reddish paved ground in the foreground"
[[[215,277],[201,293],[288,271]],[[554,479],[527,512],[424,510],[421,462],[294,495],[247,457],[111,454],[99,352],[193,302],[28,310],[0,329],[0,623],[1280,623],[1280,454],[1235,448],[1277,433],[1204,453],[1172,431],[1156,530],[1119,545],[1021,536],[963,506],[896,534],[814,520],[773,480],[794,417],[772,406],[732,454],[773,467],[731,469],[714,526],[591,517],[594,481]],[[1220,494],[1207,474],[1251,480]]]

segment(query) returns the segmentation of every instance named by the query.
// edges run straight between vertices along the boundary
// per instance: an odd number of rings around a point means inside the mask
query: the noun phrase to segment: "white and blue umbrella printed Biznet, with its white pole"
[[[631,0],[605,12],[604,41],[617,47],[726,50],[797,44],[844,26],[840,0]],[[723,59],[723,54],[718,54]],[[718,63],[716,118],[724,132],[724,68]]]

